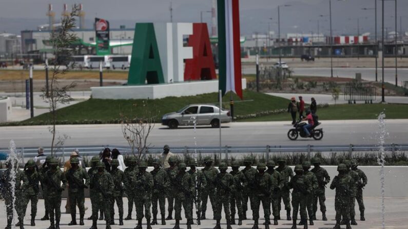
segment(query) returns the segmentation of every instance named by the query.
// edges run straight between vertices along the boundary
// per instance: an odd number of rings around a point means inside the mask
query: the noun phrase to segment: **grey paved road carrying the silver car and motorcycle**
[[[386,143],[406,143],[408,120],[387,120]],[[306,145],[306,144],[376,144],[378,137],[377,120],[322,121],[324,137],[320,141],[298,139],[290,141],[286,134],[292,128],[288,122],[236,122],[222,128],[222,145]],[[59,135],[67,134],[65,145],[127,145],[120,124],[105,125],[65,125],[58,126]],[[193,128],[169,130],[158,124],[149,136],[152,146],[164,144],[194,147],[194,136],[198,147],[219,145],[219,130],[199,127],[196,134]],[[17,147],[46,146],[51,142],[47,126],[0,127],[0,145],[6,148],[10,139]]]

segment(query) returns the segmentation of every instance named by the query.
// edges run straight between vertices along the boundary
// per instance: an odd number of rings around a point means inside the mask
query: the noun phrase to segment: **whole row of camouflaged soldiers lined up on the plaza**
[[[196,209],[197,224],[206,219],[207,200],[210,200],[214,218],[216,220],[215,229],[220,229],[221,211],[224,206],[227,229],[236,224],[236,213],[238,210],[238,225],[242,220],[246,220],[248,210],[248,200],[252,210],[253,229],[258,228],[259,208],[262,203],[265,228],[269,228],[270,213],[273,214],[273,224],[278,225],[281,219],[281,201],[286,210],[286,220],[293,221],[296,228],[298,212],[300,210],[300,225],[307,228],[313,225],[316,219],[317,205],[320,204],[322,220],[327,220],[325,216],[325,188],[330,182],[330,177],[325,169],[320,167],[320,159],[312,160],[314,169],[309,171],[310,162],[304,161],[302,165],[295,166],[293,170],[285,165],[285,160],[278,160],[278,167],[275,169],[275,162],[269,161],[265,164],[258,164],[257,169],[252,168],[251,161],[244,160],[245,168],[239,170],[237,162],[232,162],[232,171],[227,173],[228,166],[225,163],[219,165],[217,170],[212,165],[210,157],[205,157],[204,168],[197,170],[197,163],[189,163],[189,171],[185,163],[176,165],[176,160],[170,157],[169,168],[161,168],[161,161],[153,161],[154,169],[149,173],[146,171],[146,162],[135,157],[128,160],[128,168],[124,172],[118,169],[119,162],[114,159],[111,163],[111,172],[105,170],[105,165],[100,162],[100,158],[92,158],[92,166],[86,172],[80,166],[77,158],[71,159],[71,169],[63,173],[56,158],[47,157],[46,162],[38,168],[34,161],[27,162],[23,172],[16,170],[16,206],[18,213],[18,226],[24,228],[23,219],[27,209],[27,204],[31,201],[31,225],[35,226],[36,204],[38,201],[38,183],[42,184],[45,197],[46,216],[43,219],[50,220],[49,229],[59,229],[61,219],[61,199],[62,192],[68,185],[68,195],[71,209],[71,222],[69,225],[76,225],[76,205],[80,211],[80,225],[84,225],[85,196],[84,189],[90,189],[90,199],[92,204],[91,229],[97,228],[98,214],[106,220],[106,228],[114,224],[114,202],[119,209],[119,225],[123,225],[123,220],[132,219],[133,204],[137,212],[137,227],[142,228],[142,219],[146,218],[147,228],[158,224],[158,206],[161,214],[161,224],[165,225],[166,220],[174,219],[176,224],[174,229],[180,228],[181,210],[184,209],[187,220],[187,228],[191,228],[193,222],[193,209]],[[334,178],[330,188],[336,189],[335,229],[340,228],[340,224],[345,224],[351,228],[351,224],[357,225],[355,221],[354,202],[357,199],[360,206],[360,219],[364,219],[364,205],[362,201],[362,188],[367,183],[364,173],[357,169],[357,161],[345,161],[345,164],[338,166],[339,175]],[[2,181],[10,184],[11,163],[6,164],[7,170],[2,175]],[[351,168],[353,168],[351,170]],[[290,202],[290,190],[292,191],[292,207]],[[23,192],[24,190],[24,192]],[[128,198],[128,216],[123,218],[123,194]],[[12,196],[10,185],[5,185],[2,191],[7,205],[7,227],[11,228],[12,222]],[[168,215],[165,218],[165,200],[168,201]],[[152,206],[152,215],[150,207]],[[270,211],[270,209],[272,211]]]

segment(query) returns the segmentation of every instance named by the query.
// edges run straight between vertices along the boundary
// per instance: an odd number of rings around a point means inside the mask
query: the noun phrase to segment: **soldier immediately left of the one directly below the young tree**
[[[21,215],[26,214],[28,201],[31,201],[31,226],[35,226],[35,216],[37,214],[37,202],[38,202],[38,182],[40,182],[40,175],[37,172],[37,166],[34,160],[30,159],[26,163],[23,176],[26,177],[28,183],[24,184],[22,190],[24,192],[21,193]]]

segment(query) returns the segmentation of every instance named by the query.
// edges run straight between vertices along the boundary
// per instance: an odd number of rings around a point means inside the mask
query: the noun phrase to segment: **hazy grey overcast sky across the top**
[[[172,0],[173,22],[199,22],[200,11],[211,10],[211,0]],[[328,34],[329,0],[240,0],[241,31],[243,34],[266,33],[268,22],[270,30],[277,31],[277,7],[281,8],[281,31],[299,33],[317,33],[317,19],[320,19],[320,32]],[[70,6],[82,3],[86,12],[86,25],[91,27],[93,17],[98,16],[111,21],[112,27],[126,25],[134,27],[136,22],[168,22],[170,20],[170,0],[83,0],[83,1],[47,1],[47,0],[1,0],[0,31],[19,33],[18,31],[35,29],[36,25],[47,24],[48,4],[53,4],[56,18],[59,18],[63,3]],[[360,33],[374,31],[375,0],[332,0],[333,30],[338,34],[357,34],[357,18],[360,18]],[[378,4],[378,29],[381,28],[381,1]],[[408,30],[408,0],[397,2],[398,31],[400,16],[402,29]],[[395,2],[385,2],[385,27],[394,30]],[[323,15],[323,17],[319,17]],[[268,18],[274,18],[269,20]],[[21,20],[25,18],[25,20]],[[27,20],[29,19],[29,20]],[[203,14],[204,22],[210,24],[210,13]],[[209,25],[210,27],[210,25]]]

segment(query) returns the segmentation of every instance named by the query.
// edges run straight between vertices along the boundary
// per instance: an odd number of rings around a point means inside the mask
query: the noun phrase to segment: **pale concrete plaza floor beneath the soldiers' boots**
[[[69,214],[64,214],[65,213],[65,202],[66,200],[63,199],[62,201],[62,207],[61,210],[63,212],[61,216],[61,224],[60,227],[61,229],[63,228],[72,228],[72,229],[84,229],[84,228],[89,228],[92,224],[90,220],[85,220],[85,225],[84,226],[68,226],[68,223],[71,220],[71,217]],[[365,197],[364,198],[364,203],[365,203],[365,218],[366,221],[360,221],[359,220],[359,211],[358,211],[358,206],[356,204],[356,219],[357,219],[357,226],[352,226],[353,229],[365,229],[365,228],[382,228],[381,225],[381,198],[379,197]],[[89,210],[86,211],[85,218],[88,218],[91,214],[91,204],[90,200],[87,198],[85,200],[85,205],[89,207]],[[249,204],[248,204],[249,205]],[[389,229],[394,229],[394,228],[408,228],[408,198],[385,198],[385,228]],[[326,199],[326,207],[327,207],[327,218],[328,221],[321,221],[321,213],[318,211],[317,213],[317,218],[318,220],[315,221],[314,226],[309,226],[309,228],[318,228],[318,229],[331,229],[335,225],[335,211],[334,211],[334,198],[327,198]],[[3,209],[3,213],[0,216],[0,228],[4,228],[6,226],[6,207],[4,205],[4,201],[0,201],[0,209]],[[30,204],[28,205],[27,208],[27,216],[24,220],[25,223],[25,228],[48,228],[49,226],[49,221],[41,221],[40,218],[44,216],[44,201],[40,199],[38,201],[37,205],[37,216],[36,216],[36,226],[29,226],[30,225]],[[115,207],[116,209],[116,207]],[[118,213],[117,210],[115,211],[115,223],[119,223],[118,221]],[[127,215],[127,198],[124,198],[124,217]],[[174,212],[173,212],[174,214]],[[195,214],[194,214],[195,215]],[[285,216],[285,212],[281,212],[281,216]],[[212,220],[213,214],[211,211],[211,206],[208,201],[208,207],[207,207],[207,220],[202,220],[201,225],[192,225],[192,228],[201,228],[201,229],[211,229],[215,226],[215,220]],[[247,217],[250,219],[252,216],[252,212],[248,210],[247,212]],[[260,228],[264,228],[263,225],[261,225],[264,222],[263,219],[263,211],[261,209],[260,211]],[[137,221],[135,220],[136,213],[133,209],[133,214],[132,214],[132,220],[125,220],[123,226],[119,225],[112,225],[112,229],[119,229],[119,228],[134,228],[136,226]],[[159,212],[159,219],[160,219],[160,212]],[[166,217],[167,217],[167,209],[166,209]],[[174,216],[173,216],[174,217]],[[237,218],[238,216],[236,216]],[[79,214],[77,214],[77,218],[79,218]],[[181,221],[181,228],[186,228],[186,220],[184,213],[182,212],[182,218],[183,220]],[[273,218],[273,216],[271,216]],[[285,217],[286,218],[286,217]],[[299,218],[299,217],[298,217]],[[196,220],[194,220],[196,222]],[[79,219],[77,220],[79,223]],[[159,220],[160,222],[160,220]],[[165,228],[165,229],[171,229],[174,226],[174,220],[167,220],[166,221],[167,225],[153,225],[152,228]],[[226,228],[226,222],[223,214],[223,220],[221,221],[221,226],[222,228]],[[250,229],[253,225],[252,220],[244,220],[243,225],[238,226],[238,225],[232,225],[232,228],[245,228],[245,229]],[[292,221],[287,221],[287,220],[279,220],[279,225],[270,225],[270,228],[279,228],[279,229],[290,229],[292,227]],[[98,228],[105,228],[105,221],[98,221]],[[146,220],[143,219],[143,228],[146,228]],[[298,228],[303,228],[303,226],[298,226]],[[342,228],[345,228],[343,225]]]

